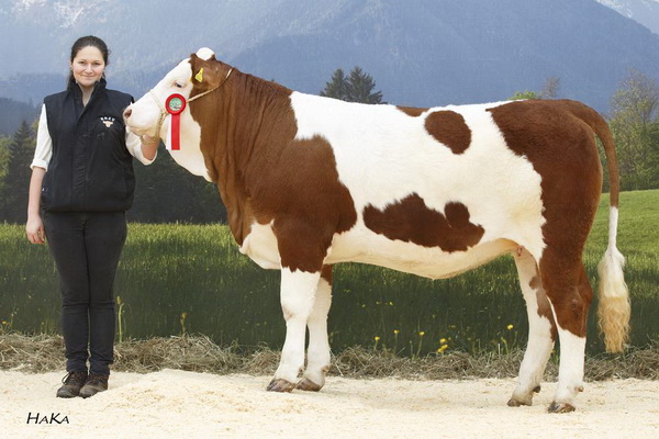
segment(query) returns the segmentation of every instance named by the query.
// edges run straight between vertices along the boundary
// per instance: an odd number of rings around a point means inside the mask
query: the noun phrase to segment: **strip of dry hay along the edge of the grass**
[[[216,374],[272,374],[280,352],[265,346],[220,347],[205,336],[183,336],[129,340],[115,345],[113,370],[147,373],[180,369]],[[347,378],[403,378],[407,380],[456,380],[514,378],[524,357],[510,353],[446,352],[426,357],[401,357],[389,351],[351,347],[333,356],[330,375]],[[41,373],[65,369],[62,336],[0,335],[0,370]],[[556,380],[558,365],[547,364],[546,380]],[[588,381],[613,378],[659,380],[659,344],[632,348],[623,354],[587,357]]]

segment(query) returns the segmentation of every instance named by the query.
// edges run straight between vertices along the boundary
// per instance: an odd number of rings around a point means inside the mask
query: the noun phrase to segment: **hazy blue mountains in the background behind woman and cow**
[[[358,65],[386,101],[417,106],[558,77],[559,95],[606,112],[629,68],[659,79],[659,35],[595,0],[0,0],[0,97],[60,90],[71,43],[90,33],[113,52],[110,86],[135,97],[201,46],[310,93]]]

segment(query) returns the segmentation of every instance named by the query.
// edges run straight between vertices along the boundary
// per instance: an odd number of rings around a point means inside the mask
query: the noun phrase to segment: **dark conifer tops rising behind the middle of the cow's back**
[[[383,103],[382,92],[373,91],[376,81],[360,67],[355,66],[349,76],[345,76],[343,69],[336,69],[330,82],[321,91],[322,97],[340,99],[347,102]]]

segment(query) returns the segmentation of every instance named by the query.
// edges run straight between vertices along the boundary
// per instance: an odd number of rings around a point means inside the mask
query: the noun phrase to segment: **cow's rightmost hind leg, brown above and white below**
[[[551,255],[543,257],[540,273],[551,303],[560,341],[558,386],[549,412],[574,410],[583,391],[585,325],[593,291],[581,260],[572,262]]]

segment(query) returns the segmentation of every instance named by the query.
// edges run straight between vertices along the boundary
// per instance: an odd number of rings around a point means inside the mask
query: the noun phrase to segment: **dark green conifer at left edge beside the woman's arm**
[[[27,192],[32,176],[30,164],[34,158],[35,142],[33,130],[23,121],[9,144],[0,219],[10,223],[25,223],[27,219]]]

